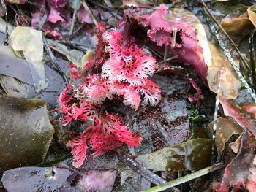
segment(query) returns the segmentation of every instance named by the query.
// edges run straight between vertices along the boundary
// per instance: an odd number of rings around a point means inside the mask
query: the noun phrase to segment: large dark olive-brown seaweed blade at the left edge
[[[0,96],[0,125],[0,174],[43,161],[54,131],[44,101]]]

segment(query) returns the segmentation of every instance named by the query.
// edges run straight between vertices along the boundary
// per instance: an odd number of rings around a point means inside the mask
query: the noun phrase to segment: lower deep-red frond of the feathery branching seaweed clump
[[[69,141],[67,146],[72,147],[73,166],[78,168],[86,159],[88,147],[91,147],[91,150],[94,150],[93,155],[97,156],[121,146],[123,142],[138,146],[142,140],[142,137],[129,131],[121,118],[106,113],[101,120],[91,123],[83,134]]]

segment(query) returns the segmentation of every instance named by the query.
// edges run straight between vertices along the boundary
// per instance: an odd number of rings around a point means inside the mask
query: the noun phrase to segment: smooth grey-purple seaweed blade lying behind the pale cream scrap
[[[45,64],[47,64],[45,65],[45,79],[48,82],[48,88],[46,88],[41,93],[35,93],[35,88],[33,86],[33,80],[31,77],[31,71],[29,69],[28,62],[23,58],[16,57],[15,54],[12,52],[12,49],[8,46],[0,46],[0,58],[0,74],[4,74],[5,76],[10,76],[17,80],[20,80],[20,83],[22,84],[22,89],[24,91],[27,89],[29,92],[28,98],[42,99],[43,101],[47,102],[50,107],[56,107],[59,104],[57,94],[61,93],[61,91],[64,89],[65,84],[61,75],[49,67],[50,62],[45,62]],[[60,59],[58,59],[58,61],[61,66],[61,70],[66,72],[67,61]],[[17,84],[15,81],[15,84],[10,85],[11,82],[7,81],[6,86],[13,89],[13,91],[16,93],[16,85],[21,85],[20,83]],[[26,88],[24,86],[26,86]],[[19,86],[18,90],[20,90],[20,88],[21,87]],[[10,91],[12,91],[11,89]],[[13,91],[12,93],[14,93]],[[14,96],[17,96],[17,94],[15,94]],[[25,96],[25,94],[23,94],[23,96]]]

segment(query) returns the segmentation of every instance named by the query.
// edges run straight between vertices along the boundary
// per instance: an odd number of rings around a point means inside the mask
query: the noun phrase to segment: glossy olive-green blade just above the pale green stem
[[[211,157],[210,139],[192,139],[136,159],[153,171],[185,171],[206,167]]]

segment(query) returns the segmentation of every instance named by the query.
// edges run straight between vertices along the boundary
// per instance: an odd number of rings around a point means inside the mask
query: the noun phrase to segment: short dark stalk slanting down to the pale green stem
[[[120,161],[123,161],[124,164],[129,166],[132,170],[140,174],[142,177],[145,177],[146,180],[150,181],[151,183],[154,183],[155,185],[161,185],[163,183],[166,183],[167,181],[162,179],[162,177],[159,177],[157,174],[154,174],[154,172],[149,171],[146,169],[145,166],[138,163],[138,161],[135,161],[131,155],[128,155],[127,153],[124,153],[124,151],[120,149],[116,149],[117,152],[117,158]],[[178,188],[171,188],[170,189],[173,192],[178,192]]]

